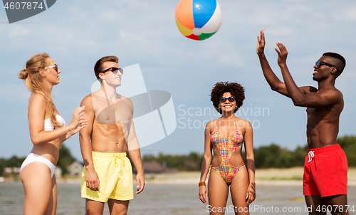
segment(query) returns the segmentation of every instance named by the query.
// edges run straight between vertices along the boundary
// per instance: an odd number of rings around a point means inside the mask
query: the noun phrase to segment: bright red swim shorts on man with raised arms
[[[347,194],[347,159],[340,145],[308,149],[303,194],[320,197]]]

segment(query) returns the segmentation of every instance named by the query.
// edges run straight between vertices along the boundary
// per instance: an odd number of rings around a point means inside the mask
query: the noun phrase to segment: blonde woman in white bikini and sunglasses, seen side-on
[[[46,53],[26,62],[19,78],[25,80],[32,95],[28,100],[28,124],[33,148],[23,161],[20,177],[25,189],[23,214],[56,214],[57,185],[54,172],[61,143],[85,127],[84,107],[76,108],[65,125],[51,99],[53,85],[59,83],[56,63]]]

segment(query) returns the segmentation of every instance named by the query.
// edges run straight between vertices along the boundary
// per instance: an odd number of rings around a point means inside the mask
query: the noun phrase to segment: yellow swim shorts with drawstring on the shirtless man
[[[133,199],[132,167],[126,153],[92,152],[93,163],[100,186],[93,191],[86,186],[84,167],[81,182],[83,198],[106,202],[108,199]]]

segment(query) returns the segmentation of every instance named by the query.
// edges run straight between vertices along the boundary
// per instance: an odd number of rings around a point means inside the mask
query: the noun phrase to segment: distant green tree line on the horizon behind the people
[[[337,142],[345,151],[349,167],[356,167],[356,136],[344,136],[337,138]],[[254,150],[256,168],[287,168],[303,167],[305,156],[308,154],[308,145],[297,147],[295,150],[288,150],[276,144],[257,147]],[[243,153],[244,154],[244,153]],[[13,156],[9,159],[0,158],[0,175],[5,167],[21,167],[26,157]],[[68,166],[75,161],[66,145],[62,144],[58,167],[63,169],[63,174],[68,173]],[[159,162],[162,167],[168,169],[178,169],[179,171],[199,171],[203,154],[192,152],[188,155],[158,154],[157,156],[145,154],[142,158],[145,162]]]

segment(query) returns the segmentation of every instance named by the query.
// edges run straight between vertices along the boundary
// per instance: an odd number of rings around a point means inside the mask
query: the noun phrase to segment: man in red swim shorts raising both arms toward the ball
[[[335,88],[335,79],[345,68],[345,58],[337,53],[324,53],[314,65],[314,87],[295,85],[286,65],[287,49],[276,43],[278,65],[284,83],[273,73],[264,55],[265,38],[258,36],[257,54],[263,75],[272,90],[286,95],[295,106],[307,108],[308,155],[305,157],[303,194],[310,214],[349,214],[347,211],[347,159],[337,144],[340,113],[344,100]],[[325,208],[326,206],[326,208]]]

